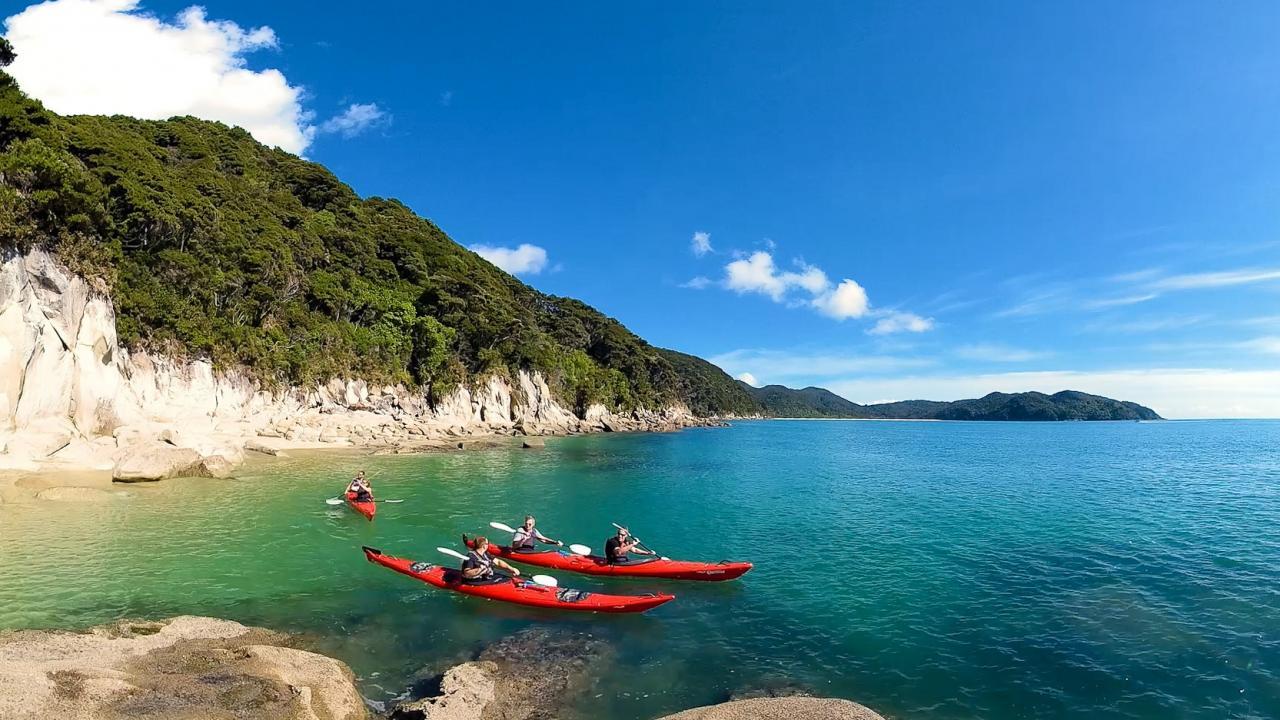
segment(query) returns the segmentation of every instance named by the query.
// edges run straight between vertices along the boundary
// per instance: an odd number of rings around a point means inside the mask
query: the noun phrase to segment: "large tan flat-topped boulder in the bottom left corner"
[[[0,634],[0,717],[357,720],[342,662],[211,618]]]

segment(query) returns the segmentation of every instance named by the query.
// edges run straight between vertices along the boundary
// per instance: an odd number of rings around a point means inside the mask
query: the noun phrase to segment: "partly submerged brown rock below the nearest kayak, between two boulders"
[[[444,673],[439,694],[401,703],[392,717],[552,720],[589,687],[589,670],[612,656],[607,643],[586,633],[530,628]]]

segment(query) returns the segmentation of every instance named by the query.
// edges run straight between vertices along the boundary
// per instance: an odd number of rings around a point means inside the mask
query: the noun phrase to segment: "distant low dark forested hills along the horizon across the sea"
[[[782,386],[754,388],[740,383],[776,418],[860,418],[884,420],[1158,420],[1160,415],[1137,402],[1124,402],[1076,391],[993,392],[977,400],[940,402],[908,400],[879,405],[850,402],[831,391]]]

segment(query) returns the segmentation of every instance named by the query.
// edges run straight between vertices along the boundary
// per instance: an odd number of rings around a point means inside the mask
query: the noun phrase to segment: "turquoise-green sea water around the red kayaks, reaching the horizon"
[[[613,641],[584,717],[788,680],[892,717],[1280,717],[1280,423],[768,421],[543,451],[293,459],[236,480],[0,506],[0,626],[206,614],[308,633],[385,700],[531,624]],[[366,468],[367,523],[324,498]],[[599,546],[748,559],[643,616],[436,591],[360,544],[438,544],[525,511]]]

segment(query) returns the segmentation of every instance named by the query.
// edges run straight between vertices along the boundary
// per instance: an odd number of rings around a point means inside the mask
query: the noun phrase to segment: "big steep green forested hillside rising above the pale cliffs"
[[[37,245],[110,292],[122,342],[268,383],[361,377],[439,397],[536,369],[579,410],[751,402],[727,377],[704,387],[703,361],[538,292],[243,129],[59,117],[0,73],[0,246]]]

